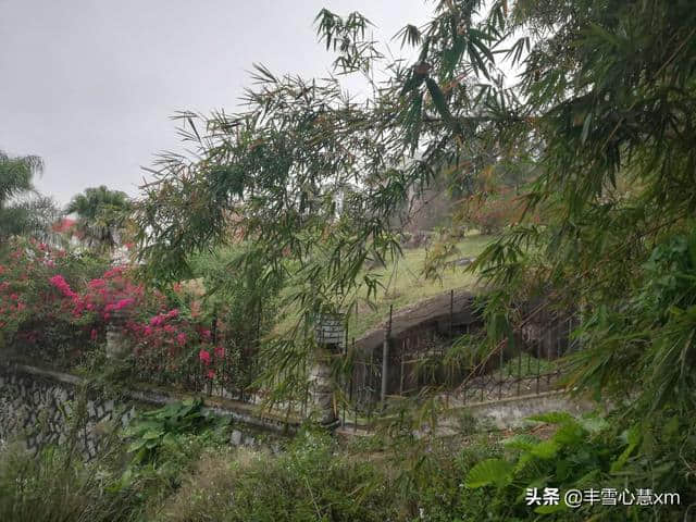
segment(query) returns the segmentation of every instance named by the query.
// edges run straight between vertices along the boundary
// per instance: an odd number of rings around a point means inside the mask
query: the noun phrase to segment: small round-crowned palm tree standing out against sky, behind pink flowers
[[[77,231],[90,248],[112,250],[130,212],[128,195],[101,185],[73,197],[66,214],[77,214]]]

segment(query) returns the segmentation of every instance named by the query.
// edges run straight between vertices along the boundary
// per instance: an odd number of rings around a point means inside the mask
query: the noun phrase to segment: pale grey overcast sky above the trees
[[[423,0],[0,0],[0,150],[37,154],[39,190],[61,204],[87,187],[137,195],[170,116],[233,109],[252,63],[324,75],[322,8],[358,10],[390,38],[424,23]],[[398,42],[391,44],[398,51]]]

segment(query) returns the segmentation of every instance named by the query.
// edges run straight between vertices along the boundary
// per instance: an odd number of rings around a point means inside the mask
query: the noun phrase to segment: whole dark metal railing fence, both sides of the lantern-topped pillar
[[[571,335],[577,324],[575,316],[546,314],[520,328],[496,349],[476,353],[473,348],[476,337],[485,335],[482,319],[471,314],[469,322],[457,322],[453,291],[449,302],[449,318],[398,333],[391,332],[390,310],[389,320],[383,328],[383,341],[368,350],[357,348],[356,340],[347,337],[348,325],[344,326],[346,337],[340,350],[333,356],[337,380],[334,408],[341,424],[355,427],[369,425],[389,403],[420,394],[440,395],[455,407],[539,394],[551,389],[563,374],[563,364],[559,360],[577,349],[579,344]],[[215,332],[214,324],[212,331]],[[451,357],[457,344],[459,351],[467,356],[460,360]],[[166,372],[160,371],[154,381],[259,405],[268,398],[264,391],[239,386],[235,374],[239,368],[258,363],[257,350],[258,344],[246,356],[243,353],[244,360],[223,359],[222,366],[215,369],[214,380],[207,378],[204,364],[195,361],[190,366],[194,371],[186,375],[170,380]],[[304,368],[306,375],[309,375],[309,370]],[[144,381],[153,380],[151,372],[139,372],[138,369],[133,369],[133,372]],[[311,413],[312,405],[309,381],[299,378],[295,383],[295,398],[275,402],[274,410],[302,420]]]

